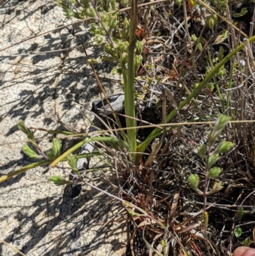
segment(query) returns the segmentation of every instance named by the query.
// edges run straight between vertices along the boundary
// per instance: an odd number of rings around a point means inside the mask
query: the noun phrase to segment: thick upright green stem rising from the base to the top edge
[[[124,84],[125,93],[125,114],[130,117],[135,117],[135,36],[136,36],[136,17],[137,17],[137,0],[131,1],[131,22],[129,35],[129,50],[128,50],[128,80]],[[135,119],[126,117],[126,126],[135,127]],[[136,153],[136,129],[128,130],[128,139],[131,149]],[[137,155],[134,154],[135,162]]]

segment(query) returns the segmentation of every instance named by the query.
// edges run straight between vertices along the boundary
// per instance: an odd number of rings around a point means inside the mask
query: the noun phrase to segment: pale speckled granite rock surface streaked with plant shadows
[[[80,46],[85,44],[89,57],[99,56],[86,25],[37,36],[77,20],[66,20],[61,8],[50,0],[13,3],[0,10],[0,47],[13,45],[0,51],[1,175],[33,163],[21,152],[26,137],[17,129],[19,119],[29,127],[84,132],[89,122],[80,110],[89,114],[85,109],[91,109],[92,101],[99,96]],[[99,77],[110,78],[109,64],[97,64],[95,68]],[[117,84],[106,79],[102,82],[108,95],[120,91]],[[41,139],[52,136],[40,131],[35,135]],[[63,150],[75,142],[78,139],[63,140]],[[40,146],[47,150],[51,144],[41,140]],[[69,186],[48,181],[56,174],[64,172],[38,167],[0,184],[0,239],[29,256],[124,255],[126,226],[94,225],[111,220],[119,205],[112,206],[105,195],[90,188],[71,199]],[[104,184],[98,186],[109,189]],[[0,244],[0,255],[18,254]]]

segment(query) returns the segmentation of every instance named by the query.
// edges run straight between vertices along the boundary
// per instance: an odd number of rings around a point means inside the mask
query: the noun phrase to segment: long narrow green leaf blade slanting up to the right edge
[[[249,38],[249,43],[252,43],[253,41],[255,41],[255,36],[252,36],[251,38]],[[208,82],[210,82],[210,80],[214,78],[214,76],[219,72],[219,70],[221,70],[222,66],[224,66],[224,64],[226,64],[231,59],[231,57],[234,57],[237,54],[237,52],[240,52],[240,50],[242,50],[243,48],[244,48],[244,43],[239,45],[236,50],[233,50],[233,52],[230,52],[230,54],[224,57],[224,59],[222,59],[222,61],[219,64],[217,64],[217,66],[215,66],[215,68],[210,73],[208,73],[208,75],[200,83],[200,85],[196,87],[183,102],[180,103],[177,109],[174,109],[166,117],[166,123],[168,123],[177,114],[177,110],[180,111],[185,105],[191,102],[191,100],[195,98],[196,95],[198,95],[198,93],[200,93],[200,91],[203,88],[205,88],[205,86],[207,86]],[[160,134],[161,134],[161,130],[159,130],[159,128],[155,128],[152,131],[152,133],[150,133],[149,137],[147,137],[147,139],[138,146],[139,152],[143,153],[149,146],[150,142]]]

